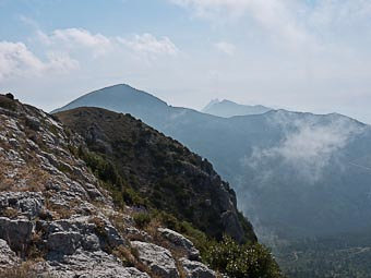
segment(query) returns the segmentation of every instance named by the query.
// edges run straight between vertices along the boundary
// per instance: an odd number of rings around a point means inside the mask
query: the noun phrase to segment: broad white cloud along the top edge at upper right
[[[208,19],[213,23],[247,16],[276,44],[290,48],[302,47],[313,51],[322,50],[322,44],[325,40],[323,32],[351,25],[362,20],[368,21],[371,15],[371,1],[369,0],[168,1],[189,9],[196,16]]]

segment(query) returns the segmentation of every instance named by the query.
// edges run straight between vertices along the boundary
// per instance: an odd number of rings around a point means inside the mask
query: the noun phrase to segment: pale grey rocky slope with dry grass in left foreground
[[[216,277],[193,243],[135,226],[51,116],[0,96],[0,277]]]

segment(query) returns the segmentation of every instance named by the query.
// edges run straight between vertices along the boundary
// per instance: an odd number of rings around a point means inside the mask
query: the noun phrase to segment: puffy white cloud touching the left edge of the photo
[[[0,81],[49,70],[65,72],[77,67],[77,61],[63,53],[49,52],[47,61],[41,61],[23,43],[0,41]]]

